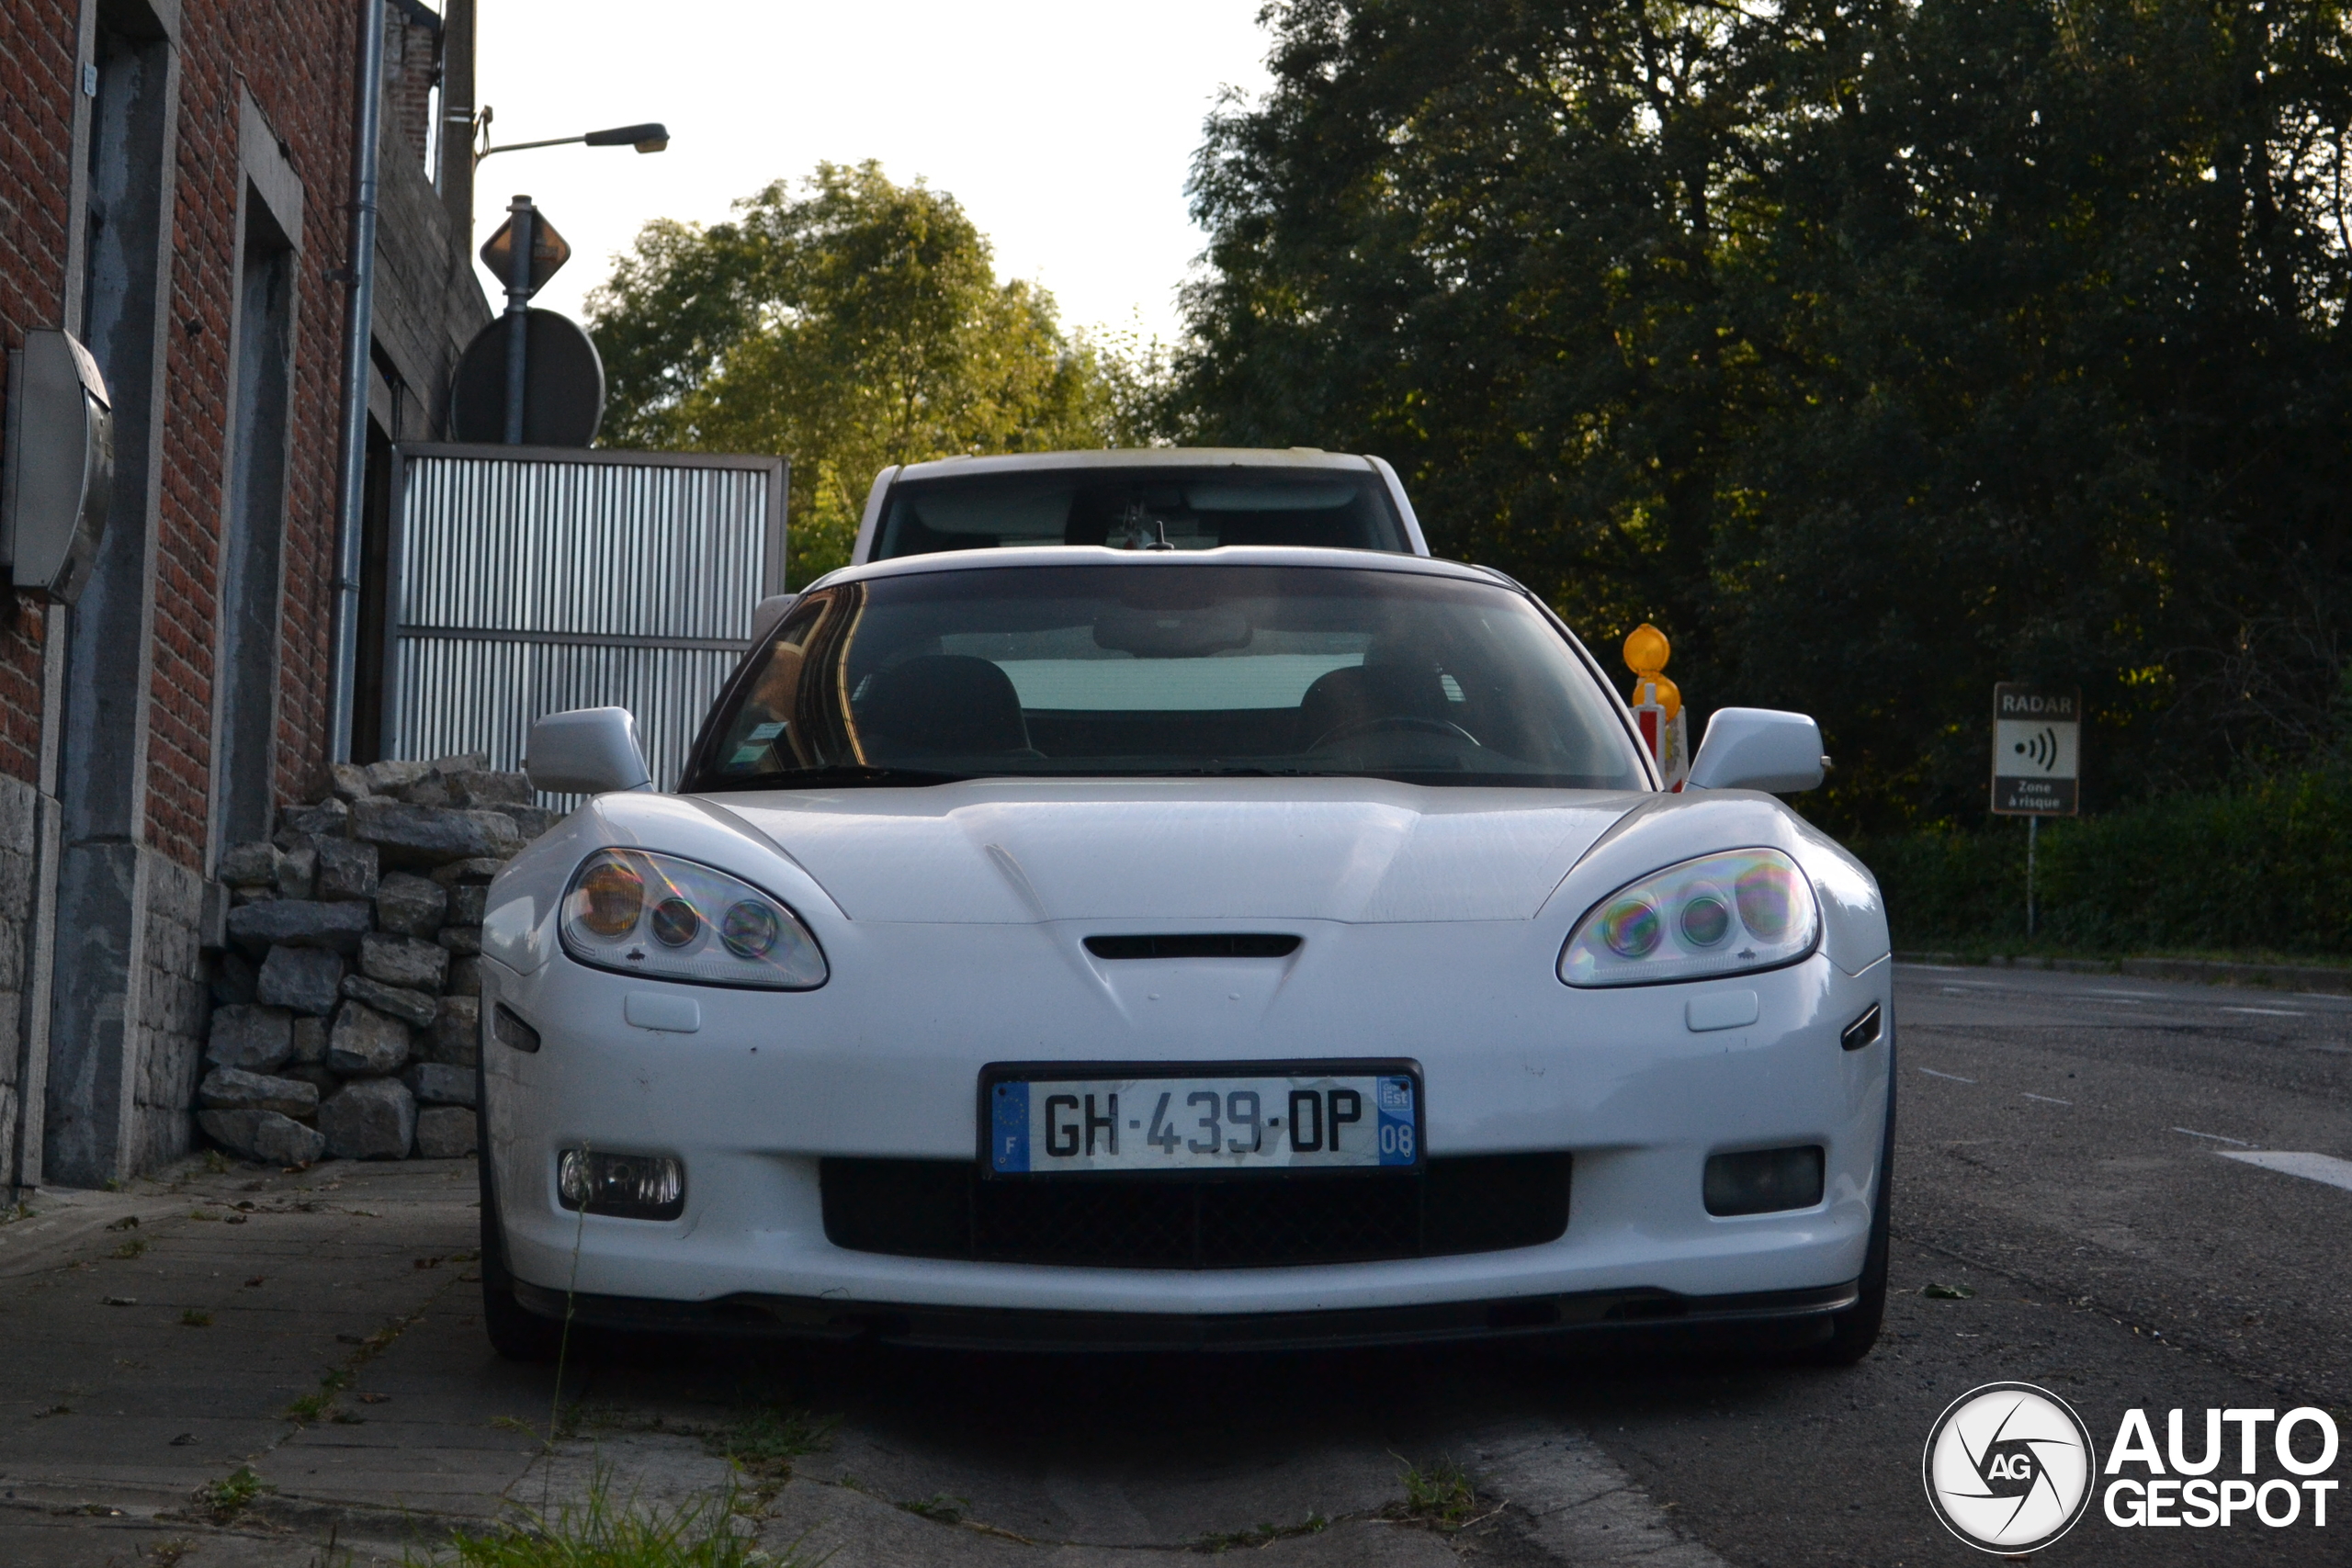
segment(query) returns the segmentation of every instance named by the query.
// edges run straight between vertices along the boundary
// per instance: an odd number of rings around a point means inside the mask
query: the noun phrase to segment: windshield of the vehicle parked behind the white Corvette
[[[1103,468],[908,480],[889,489],[873,559],[1007,545],[1409,550],[1376,473],[1345,468]]]

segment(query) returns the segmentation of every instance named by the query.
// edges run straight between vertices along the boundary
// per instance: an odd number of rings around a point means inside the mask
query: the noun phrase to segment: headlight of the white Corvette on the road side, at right
[[[1778,849],[1668,865],[1602,898],[1559,950],[1569,985],[1656,985],[1792,964],[1820,940],[1813,884]]]

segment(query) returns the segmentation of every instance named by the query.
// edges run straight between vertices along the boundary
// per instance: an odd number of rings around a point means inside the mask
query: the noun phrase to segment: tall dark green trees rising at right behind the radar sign
[[[2093,806],[2333,733],[2343,5],[1268,19],[1183,435],[1383,451],[1439,552],[1663,625],[1700,717],[1816,712],[1842,830],[1973,820],[1994,679],[2084,686]]]

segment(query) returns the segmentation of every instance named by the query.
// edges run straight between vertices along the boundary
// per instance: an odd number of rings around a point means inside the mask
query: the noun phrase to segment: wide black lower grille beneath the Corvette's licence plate
[[[1254,1269],[1541,1246],[1566,1154],[1430,1159],[1425,1175],[981,1180],[967,1159],[826,1159],[826,1239],[856,1253],[1098,1269]]]

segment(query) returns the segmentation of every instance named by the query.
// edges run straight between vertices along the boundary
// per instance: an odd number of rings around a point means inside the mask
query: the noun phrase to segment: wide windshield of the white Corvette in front
[[[1171,557],[818,588],[729,682],[684,788],[983,776],[1649,788],[1517,592]]]

